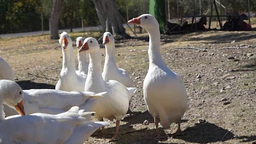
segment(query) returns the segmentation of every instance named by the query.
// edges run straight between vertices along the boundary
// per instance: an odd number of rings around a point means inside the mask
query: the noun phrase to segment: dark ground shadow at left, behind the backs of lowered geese
[[[52,84],[45,83],[36,83],[31,80],[20,80],[16,81],[18,85],[22,88],[22,90],[30,90],[30,89],[55,89],[55,86]]]

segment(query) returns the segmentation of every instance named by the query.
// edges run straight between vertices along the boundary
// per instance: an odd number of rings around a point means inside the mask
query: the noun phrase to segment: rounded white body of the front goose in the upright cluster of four
[[[97,119],[107,118],[109,120],[121,120],[126,114],[129,107],[129,100],[134,94],[136,88],[126,88],[120,82],[109,80],[104,82],[105,87],[96,89],[91,88],[95,92],[106,91],[102,97],[88,99],[82,106],[86,111],[96,112],[94,116]],[[86,91],[86,89],[85,89]]]

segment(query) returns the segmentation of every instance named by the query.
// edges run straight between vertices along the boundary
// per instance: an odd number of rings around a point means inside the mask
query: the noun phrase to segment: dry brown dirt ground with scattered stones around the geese
[[[82,33],[70,35],[74,41]],[[86,33],[85,37],[96,35]],[[138,89],[130,106],[133,113],[124,117],[120,125],[120,140],[112,144],[256,143],[256,32],[208,31],[161,36],[164,62],[182,76],[189,105],[181,124],[184,135],[166,136],[161,140],[152,138],[154,119],[147,111],[142,92],[148,71],[148,41],[148,34],[143,33],[136,39],[116,42],[117,65],[128,71]],[[174,49],[176,47],[208,51]],[[212,50],[223,47],[239,48]],[[101,53],[103,66],[104,48]],[[75,46],[74,54],[77,55]],[[23,89],[55,88],[62,68],[58,40],[48,40],[48,36],[0,39],[0,56],[10,64],[16,82]],[[148,125],[143,124],[145,120],[148,120]],[[168,129],[160,126],[166,134],[176,129],[177,124]],[[114,130],[115,124],[111,122],[106,132],[113,133]],[[98,136],[100,130],[85,144],[108,143],[107,139]]]

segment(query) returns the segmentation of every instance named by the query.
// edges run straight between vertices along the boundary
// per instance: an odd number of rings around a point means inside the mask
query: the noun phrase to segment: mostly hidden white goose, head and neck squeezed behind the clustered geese
[[[78,52],[79,48],[81,48],[83,43],[84,43],[84,38],[82,37],[76,38],[77,59],[78,59],[78,70],[76,70],[76,74],[79,74],[79,73],[88,74],[89,64],[86,62],[86,52]]]

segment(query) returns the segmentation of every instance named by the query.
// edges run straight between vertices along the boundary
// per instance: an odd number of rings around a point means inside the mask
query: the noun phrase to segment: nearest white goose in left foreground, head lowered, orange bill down
[[[36,113],[28,116],[4,118],[3,103],[25,115],[23,92],[11,80],[0,80],[0,142],[4,144],[83,144],[101,126],[108,122],[90,122],[81,117],[74,106],[68,112],[50,115]]]

